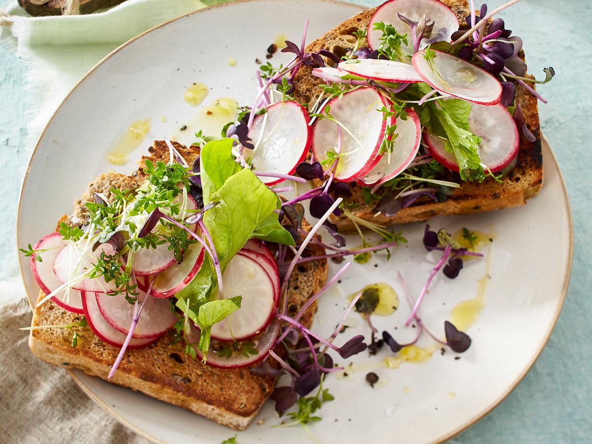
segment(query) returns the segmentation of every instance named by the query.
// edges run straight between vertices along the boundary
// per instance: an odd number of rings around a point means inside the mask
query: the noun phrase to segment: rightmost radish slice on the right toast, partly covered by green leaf
[[[480,135],[482,141],[478,152],[481,163],[491,171],[500,171],[507,167],[520,146],[520,137],[514,119],[505,106],[473,105],[469,114],[469,129],[474,134]],[[458,163],[453,153],[444,149],[444,141],[424,132],[428,150],[433,157],[443,166],[458,172]]]

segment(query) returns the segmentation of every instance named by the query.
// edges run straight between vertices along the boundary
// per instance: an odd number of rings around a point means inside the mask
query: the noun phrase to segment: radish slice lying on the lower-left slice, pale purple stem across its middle
[[[133,304],[127,302],[123,294],[109,296],[105,293],[95,293],[95,295],[96,303],[105,320],[114,329],[127,335],[130,330],[131,320],[134,317]],[[140,320],[131,336],[132,338],[158,338],[179,319],[175,313],[170,311],[168,300],[152,296],[146,300],[146,293],[144,292],[141,292],[136,297],[139,302],[146,304],[146,306],[142,310]]]

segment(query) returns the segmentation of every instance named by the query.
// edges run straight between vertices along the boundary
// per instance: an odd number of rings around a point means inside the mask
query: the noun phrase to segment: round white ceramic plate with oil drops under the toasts
[[[173,20],[119,48],[76,86],[41,136],[22,186],[19,246],[52,231],[54,221],[71,212],[72,200],[98,173],[134,169],[134,162],[114,167],[105,161],[107,147],[130,122],[152,118],[152,131],[131,155],[135,161],[153,138],[179,134],[178,128],[199,111],[182,100],[192,82],[210,87],[204,103],[220,97],[248,103],[255,93],[255,58],[266,61],[265,49],[276,35],[285,33],[300,41],[303,22],[308,19],[310,41],[360,10],[329,0],[237,2]],[[278,53],[272,61],[285,60],[282,56]],[[230,57],[237,60],[236,66],[229,66]],[[160,116],[168,122],[160,122]],[[180,140],[191,142],[191,134]],[[443,320],[452,307],[474,298],[478,278],[489,274],[485,308],[468,329],[473,340],[469,351],[458,360],[451,352],[440,355],[436,351],[424,364],[405,363],[396,370],[380,365],[388,355],[385,351],[372,358],[363,353],[345,362],[336,359],[342,364],[364,364],[350,371],[348,378],[327,378],[326,387],[336,400],[319,411],[321,422],[308,427],[314,439],[343,443],[443,440],[480,419],[519,383],[555,324],[571,267],[567,195],[545,143],[543,155],[545,186],[528,205],[430,221],[436,229],[456,231],[467,226],[496,233],[490,270],[485,260],[466,261],[456,280],[439,274],[422,306],[424,320],[441,335]],[[423,223],[401,229],[409,243],[398,248],[389,262],[375,255],[368,264],[355,264],[342,285],[323,297],[314,325],[318,332],[330,333],[345,309],[345,295],[365,284],[386,281],[402,296],[395,280],[397,270],[406,277],[414,296],[419,294],[437,257],[427,254],[422,245]],[[359,243],[350,238],[349,245]],[[331,263],[331,272],[337,267]],[[33,300],[38,288],[24,257],[21,268]],[[407,341],[415,333],[415,329],[403,328],[407,313],[403,299],[395,315],[375,317],[374,322],[379,330],[388,329],[400,342]],[[358,315],[353,317],[359,325],[347,331],[368,335],[365,323]],[[372,389],[365,382],[369,370],[381,378],[380,388]],[[79,371],[70,374],[105,410],[157,442],[211,443],[234,435],[179,407]],[[279,421],[272,403],[267,403],[249,429],[239,433],[239,442],[298,443],[310,438],[302,427],[271,427]]]

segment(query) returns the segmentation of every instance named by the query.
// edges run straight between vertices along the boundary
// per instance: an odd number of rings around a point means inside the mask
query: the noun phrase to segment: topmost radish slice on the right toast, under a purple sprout
[[[409,54],[413,53],[411,27],[398,17],[399,14],[414,22],[419,22],[425,14],[429,21],[434,22],[431,37],[422,40],[420,49],[436,41],[450,41],[452,33],[458,31],[456,15],[438,0],[390,0],[374,12],[368,23],[368,46],[372,50],[378,49],[381,44],[379,39],[382,37],[382,31],[374,30],[374,24],[385,22],[394,26],[399,34],[407,34],[407,51]]]

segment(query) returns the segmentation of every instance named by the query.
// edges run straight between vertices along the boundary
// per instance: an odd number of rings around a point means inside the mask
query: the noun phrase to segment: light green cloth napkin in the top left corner
[[[0,42],[26,66],[27,144],[34,144],[67,93],[108,53],[149,28],[205,6],[199,0],[127,0],[95,14],[28,17],[12,4],[6,10],[12,25],[2,28]]]

